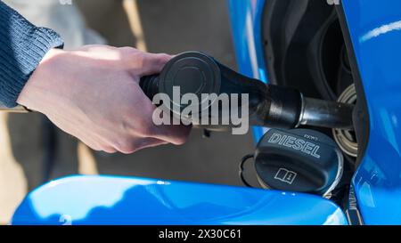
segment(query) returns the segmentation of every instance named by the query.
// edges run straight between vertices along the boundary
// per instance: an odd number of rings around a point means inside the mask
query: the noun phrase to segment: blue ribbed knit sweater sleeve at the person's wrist
[[[0,101],[17,106],[17,99],[45,53],[62,48],[61,37],[49,28],[37,28],[0,1]]]

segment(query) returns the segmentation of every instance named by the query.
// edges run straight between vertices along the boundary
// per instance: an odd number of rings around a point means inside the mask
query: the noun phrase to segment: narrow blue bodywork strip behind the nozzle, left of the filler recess
[[[233,42],[241,74],[268,82],[262,45],[262,15],[265,0],[228,0]],[[266,128],[254,127],[258,142]]]

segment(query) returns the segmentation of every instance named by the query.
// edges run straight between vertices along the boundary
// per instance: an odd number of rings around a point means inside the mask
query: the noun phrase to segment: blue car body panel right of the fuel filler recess
[[[367,224],[401,223],[401,1],[343,0],[370,116],[353,183]]]

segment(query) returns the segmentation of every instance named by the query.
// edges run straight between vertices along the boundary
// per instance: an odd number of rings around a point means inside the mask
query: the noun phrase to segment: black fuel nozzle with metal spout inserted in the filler
[[[229,69],[204,53],[188,52],[176,55],[160,74],[142,77],[140,86],[143,92],[153,100],[158,93],[169,97],[168,109],[179,117],[190,121],[202,116],[201,112],[217,105],[218,120],[229,120],[230,112],[220,105],[221,94],[238,95],[239,101],[230,103],[233,106],[248,106],[250,125],[275,128],[295,128],[298,126],[322,126],[331,128],[352,129],[353,106],[334,101],[323,101],[306,98],[296,89],[265,83]],[[180,96],[175,97],[179,90]],[[192,104],[182,104],[176,98],[192,93],[200,101],[197,104],[199,114],[193,112],[183,117],[183,110]],[[205,99],[204,94],[217,94]],[[248,95],[247,104],[241,102],[242,95]],[[211,98],[210,98],[211,97]],[[210,114],[210,113],[208,113]],[[210,115],[208,115],[210,116]],[[226,119],[225,119],[226,118]],[[227,124],[201,125],[201,128],[224,128]],[[230,126],[230,125],[228,125]]]

